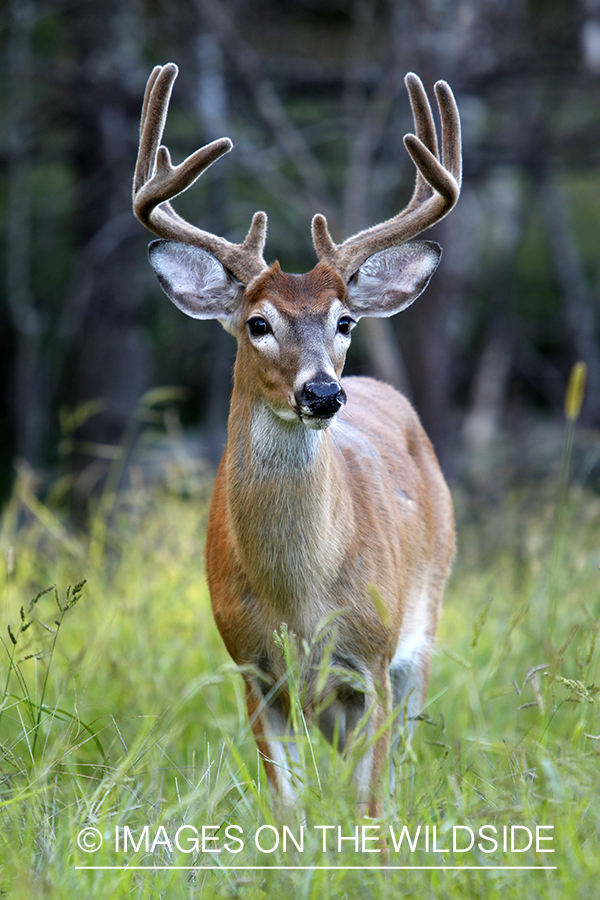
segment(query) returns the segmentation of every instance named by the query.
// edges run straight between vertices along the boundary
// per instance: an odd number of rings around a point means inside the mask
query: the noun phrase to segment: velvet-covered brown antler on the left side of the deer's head
[[[161,140],[178,71],[174,63],[156,66],[146,85],[133,179],[133,211],[142,225],[158,237],[208,250],[242,284],[248,284],[267,268],[262,255],[267,233],[265,213],[255,213],[244,242],[233,244],[186,222],[169,202],[233,147],[229,138],[220,138],[196,150],[181,165],[171,164],[169,151],[161,145]]]

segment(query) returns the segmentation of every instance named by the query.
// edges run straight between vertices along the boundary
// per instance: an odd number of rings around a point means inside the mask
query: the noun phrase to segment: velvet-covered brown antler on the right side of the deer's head
[[[334,244],[325,216],[312,221],[317,256],[350,278],[373,253],[415,237],[450,212],[460,194],[462,179],[460,117],[454,95],[445,81],[435,85],[442,123],[442,152],[438,151],[433,114],[421,79],[409,72],[404,79],[413,112],[416,135],[407,134],[404,146],[417,167],[415,189],[408,206],[398,215],[360,231],[342,244]]]

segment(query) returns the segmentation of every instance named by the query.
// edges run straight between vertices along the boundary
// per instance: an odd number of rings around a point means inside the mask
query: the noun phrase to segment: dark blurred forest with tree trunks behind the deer
[[[266,210],[266,258],[292,272],[315,263],[315,212],[339,240],[405,205],[403,77],[430,96],[446,79],[464,186],[427,235],[442,264],[407,312],[361,322],[346,372],[404,389],[477,486],[558,466],[583,360],[600,481],[600,0],[6,0],[0,47],[0,499],[16,460],[81,503],[154,386],[186,389],[182,434],[219,457],[234,342],[168,302],[131,212],[144,85],[168,61],[175,161],[235,144],[178,210],[233,240]]]

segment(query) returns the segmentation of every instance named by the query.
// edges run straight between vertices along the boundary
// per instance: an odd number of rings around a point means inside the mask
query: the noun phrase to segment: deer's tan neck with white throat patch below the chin
[[[227,499],[237,550],[253,589],[280,608],[322,593],[341,565],[351,511],[340,462],[328,430],[281,419],[234,387]]]

